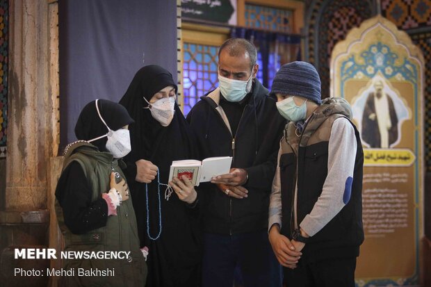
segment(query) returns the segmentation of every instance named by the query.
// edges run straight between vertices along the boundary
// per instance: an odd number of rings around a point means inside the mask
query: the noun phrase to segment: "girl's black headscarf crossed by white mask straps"
[[[109,126],[109,129],[113,131],[133,122],[127,110],[120,104],[106,99],[99,99],[97,101],[97,106],[99,106],[101,117]],[[97,113],[96,101],[90,101],[90,103],[86,104],[81,110],[78,120],[76,121],[76,138],[78,140],[92,140],[93,138],[104,136],[106,133],[108,133],[108,129]],[[100,151],[106,151],[106,140],[107,138],[105,137],[91,143],[98,147]]]

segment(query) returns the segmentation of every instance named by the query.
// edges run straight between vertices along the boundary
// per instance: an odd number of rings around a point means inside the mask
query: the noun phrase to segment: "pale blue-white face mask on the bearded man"
[[[218,75],[218,88],[227,101],[241,101],[252,90],[252,75],[247,81],[234,80]]]

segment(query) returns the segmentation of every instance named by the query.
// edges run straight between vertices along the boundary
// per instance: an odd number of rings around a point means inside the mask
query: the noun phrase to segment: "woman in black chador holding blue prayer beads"
[[[174,179],[170,185],[176,193],[169,197],[166,190],[172,161],[197,158],[176,94],[172,74],[149,65],[136,72],[120,100],[135,120],[129,126],[132,151],[125,158],[126,176],[140,244],[149,248],[147,287],[193,287],[200,281],[195,189],[187,179]]]

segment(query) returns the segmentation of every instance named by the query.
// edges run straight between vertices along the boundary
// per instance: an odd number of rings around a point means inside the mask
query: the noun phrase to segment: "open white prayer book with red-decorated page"
[[[201,182],[211,181],[211,177],[220,174],[227,174],[232,163],[231,156],[218,156],[205,158],[203,161],[186,159],[184,161],[172,161],[169,172],[169,181],[172,177],[181,179],[185,175],[194,186],[199,186]]]

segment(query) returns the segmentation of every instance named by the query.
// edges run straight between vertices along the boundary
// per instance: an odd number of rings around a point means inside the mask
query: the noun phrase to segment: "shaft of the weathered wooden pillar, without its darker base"
[[[56,155],[57,135],[57,95],[49,81],[55,65],[50,63],[49,6],[47,1],[10,1],[6,211],[47,208],[47,163]]]

